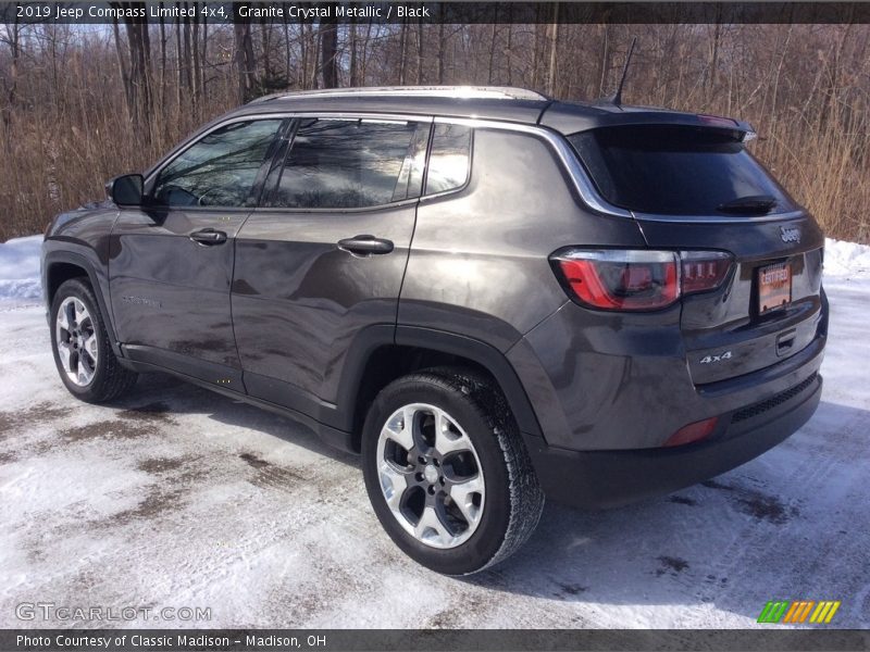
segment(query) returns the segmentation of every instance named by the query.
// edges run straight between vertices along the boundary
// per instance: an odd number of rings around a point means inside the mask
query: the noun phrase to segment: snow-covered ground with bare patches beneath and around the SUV
[[[22,602],[211,607],[213,627],[749,627],[773,599],[842,600],[834,625],[870,627],[868,248],[829,242],[825,389],[799,432],[668,498],[548,505],[519,554],[460,580],[401,554],[356,459],[291,422],[157,375],[75,401],[34,305],[38,240],[0,244],[0,627],[61,625]]]

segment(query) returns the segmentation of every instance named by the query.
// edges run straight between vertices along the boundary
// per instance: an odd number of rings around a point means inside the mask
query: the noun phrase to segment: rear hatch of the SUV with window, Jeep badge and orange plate
[[[599,193],[633,213],[651,249],[733,255],[716,289],[682,299],[686,363],[698,386],[791,358],[821,321],[821,230],[746,150],[743,125],[710,122],[569,137]],[[682,273],[706,269],[684,262]]]

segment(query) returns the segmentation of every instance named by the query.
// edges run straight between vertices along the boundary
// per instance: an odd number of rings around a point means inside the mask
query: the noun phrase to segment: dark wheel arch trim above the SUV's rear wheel
[[[353,341],[338,386],[336,427],[360,450],[368,408],[389,383],[433,366],[465,366],[489,376],[511,408],[520,430],[540,437],[540,426],[513,366],[495,347],[455,333],[417,326],[371,326]]]

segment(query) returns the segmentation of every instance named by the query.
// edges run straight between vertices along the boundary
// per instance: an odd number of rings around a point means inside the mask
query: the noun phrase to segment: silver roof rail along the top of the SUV
[[[549,98],[511,86],[370,86],[361,88],[323,88],[319,90],[297,90],[277,92],[248,102],[249,104],[278,99],[294,98],[361,98],[361,97],[414,97],[455,99],[496,99],[545,101]]]

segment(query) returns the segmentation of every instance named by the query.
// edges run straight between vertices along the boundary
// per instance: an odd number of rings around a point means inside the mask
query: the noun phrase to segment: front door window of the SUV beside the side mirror
[[[252,205],[257,174],[281,123],[238,122],[212,131],[160,171],[151,195],[170,206]]]

